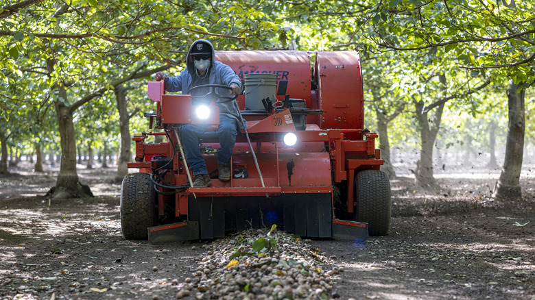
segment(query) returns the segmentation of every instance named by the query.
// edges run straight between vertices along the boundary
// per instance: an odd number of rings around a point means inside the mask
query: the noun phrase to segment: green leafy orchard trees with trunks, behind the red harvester
[[[129,124],[142,125],[131,118],[147,110],[140,81],[176,72],[193,40],[209,38],[217,49],[292,40],[297,49],[361,51],[367,124],[377,120],[391,175],[389,145],[416,132],[416,181],[436,186],[433,146],[446,142],[437,136],[447,112],[507,120],[508,167],[496,192],[518,197],[525,111],[532,110],[525,97],[535,80],[533,14],[530,3],[486,0],[8,1],[0,8],[2,158],[9,142],[29,141],[38,151],[59,141],[56,193],[82,196],[77,141],[99,147],[119,133],[118,175],[125,174]],[[508,118],[500,103],[508,103]]]

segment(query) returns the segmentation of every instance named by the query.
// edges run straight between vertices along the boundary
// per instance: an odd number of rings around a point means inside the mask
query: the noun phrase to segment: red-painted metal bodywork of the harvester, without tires
[[[238,53],[239,52],[239,53]],[[281,84],[286,86],[291,98],[305,99],[307,106],[323,110],[321,116],[309,116],[307,129],[296,131],[292,114],[283,110],[259,120],[246,117],[248,132],[257,152],[265,183],[261,186],[259,174],[254,168],[250,149],[243,134],[237,138],[233,152],[232,165],[248,166],[249,177],[220,182],[213,179],[209,188],[189,188],[175,196],[158,196],[158,213],[163,214],[163,202],[175,201],[176,216],[188,214],[188,197],[250,197],[258,195],[278,195],[296,193],[331,193],[333,184],[346,181],[348,212],[354,210],[354,180],[357,172],[366,169],[379,169],[383,164],[379,149],[375,149],[377,134],[364,132],[364,98],[362,91],[361,67],[358,53],[354,51],[318,52],[313,64],[313,77],[318,90],[311,90],[309,53],[304,51],[218,51],[217,59],[229,64],[237,74],[276,73],[278,92]],[[280,72],[279,72],[280,71]],[[278,73],[277,73],[278,72]],[[150,82],[149,95],[157,103],[157,114],[151,117],[162,127],[177,127],[188,123],[219,123],[217,106],[209,120],[195,119],[192,114],[189,95],[163,95],[163,82]],[[159,93],[159,95],[158,95]],[[280,97],[279,97],[280,96]],[[277,95],[283,99],[283,95]],[[243,96],[238,99],[243,107]],[[214,126],[214,128],[217,126]],[[294,132],[298,144],[286,147],[283,134]],[[166,135],[165,132],[151,132],[134,136],[136,143],[135,162],[129,168],[139,168],[150,173],[150,160],[154,155],[173,156],[171,145],[176,145],[176,137],[169,132],[170,141],[152,144],[146,142],[147,136]],[[215,140],[202,140],[203,145],[219,148]],[[170,184],[187,184],[185,166],[179,153],[174,155],[174,173],[168,173]],[[213,153],[204,154],[209,169],[217,168],[217,157]],[[289,166],[293,163],[295,166]],[[292,170],[290,170],[292,168]],[[348,225],[345,224],[344,225]]]

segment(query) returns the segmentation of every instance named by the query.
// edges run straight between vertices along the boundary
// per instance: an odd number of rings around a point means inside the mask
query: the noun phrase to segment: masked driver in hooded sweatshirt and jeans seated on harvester
[[[189,48],[186,57],[186,69],[176,77],[168,77],[162,72],[154,75],[154,80],[164,81],[167,92],[187,91],[195,86],[205,84],[221,84],[232,88],[233,95],[241,93],[241,80],[230,66],[215,60],[215,51],[208,40],[195,40]],[[229,88],[229,90],[230,90]],[[193,96],[203,96],[209,92],[209,88],[198,88],[191,91]],[[221,148],[217,151],[217,170],[219,180],[229,181],[230,157],[236,142],[236,136],[241,130],[242,124],[234,101],[217,103],[219,106],[219,126],[217,136]],[[195,105],[195,103],[193,103]],[[180,140],[184,145],[186,160],[189,168],[193,171],[193,186],[208,187],[212,184],[206,162],[202,159],[199,147],[199,137],[208,131],[209,125],[187,124],[180,128]]]

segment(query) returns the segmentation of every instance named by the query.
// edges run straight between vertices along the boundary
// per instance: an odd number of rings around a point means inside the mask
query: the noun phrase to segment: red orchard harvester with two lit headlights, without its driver
[[[311,63],[313,58],[313,64]],[[134,136],[135,162],[121,187],[127,239],[211,239],[249,227],[309,238],[364,240],[388,234],[390,183],[379,171],[377,134],[364,128],[364,95],[355,51],[217,51],[245,84],[237,99],[206,86],[206,105],[165,95],[149,82],[156,112]],[[229,182],[217,179],[217,101],[235,101],[246,127],[237,136]],[[204,114],[204,115],[203,115]],[[200,139],[212,185],[191,187],[180,127],[211,124]],[[164,142],[154,142],[156,136]]]

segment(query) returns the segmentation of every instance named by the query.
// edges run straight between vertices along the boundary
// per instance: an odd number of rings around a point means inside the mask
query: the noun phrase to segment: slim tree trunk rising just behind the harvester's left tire
[[[128,162],[132,158],[130,152],[130,116],[128,115],[128,103],[126,103],[126,91],[122,85],[115,87],[115,99],[117,99],[117,110],[119,110],[119,130],[121,132],[121,150],[119,151],[119,160],[117,161],[117,175],[115,181],[123,180],[128,174]]]

